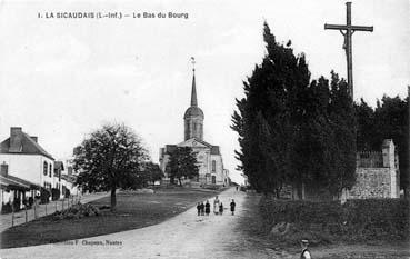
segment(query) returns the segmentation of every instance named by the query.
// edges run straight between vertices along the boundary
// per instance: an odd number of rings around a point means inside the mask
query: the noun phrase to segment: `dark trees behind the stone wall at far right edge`
[[[360,103],[356,104],[356,113],[358,150],[380,151],[383,139],[393,139],[399,155],[400,186],[408,190],[409,98],[384,96],[381,101],[377,101],[374,109],[361,99]]]

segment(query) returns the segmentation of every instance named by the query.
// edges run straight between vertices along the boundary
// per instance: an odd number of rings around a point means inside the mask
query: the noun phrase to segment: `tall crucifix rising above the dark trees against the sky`
[[[324,30],[339,30],[344,37],[343,49],[346,51],[347,64],[348,64],[348,88],[351,99],[353,100],[353,64],[352,64],[352,42],[351,37],[354,31],[373,31],[373,27],[366,26],[352,26],[351,24],[351,2],[346,3],[346,26],[327,24],[324,23]]]

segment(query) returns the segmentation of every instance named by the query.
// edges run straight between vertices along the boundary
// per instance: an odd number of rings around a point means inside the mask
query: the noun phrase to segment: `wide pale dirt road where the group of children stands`
[[[196,208],[191,208],[156,226],[63,243],[3,249],[1,258],[272,258],[252,248],[236,230],[241,215],[247,212],[242,206],[247,195],[232,188],[219,197],[227,208],[223,216],[198,217]],[[236,216],[228,209],[232,198],[237,202]]]

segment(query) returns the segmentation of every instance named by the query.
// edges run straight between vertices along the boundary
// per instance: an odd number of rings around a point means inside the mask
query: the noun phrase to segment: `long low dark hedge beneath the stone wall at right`
[[[262,198],[260,212],[267,229],[280,222],[297,231],[326,232],[344,240],[409,239],[409,201],[367,199],[339,201],[290,201]]]

